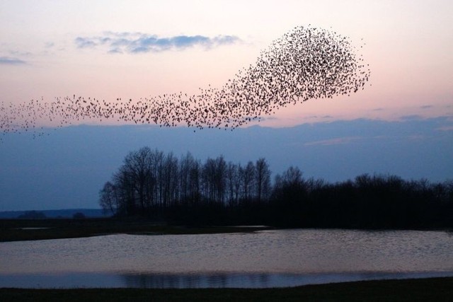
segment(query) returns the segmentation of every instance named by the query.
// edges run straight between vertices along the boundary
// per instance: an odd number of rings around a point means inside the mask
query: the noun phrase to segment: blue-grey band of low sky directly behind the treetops
[[[190,152],[205,161],[223,155],[246,164],[266,158],[273,177],[297,165],[304,178],[337,182],[362,173],[406,180],[453,180],[453,120],[351,120],[234,132],[185,127],[73,126],[33,134],[8,134],[0,144],[0,209],[98,207],[98,192],[129,151],[142,146]]]

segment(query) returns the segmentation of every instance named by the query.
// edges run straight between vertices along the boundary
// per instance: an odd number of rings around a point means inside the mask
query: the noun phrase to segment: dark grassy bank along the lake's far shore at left
[[[156,225],[146,220],[117,219],[0,219],[0,242],[80,238],[115,233],[177,235],[243,233],[268,228],[238,226],[185,227]]]

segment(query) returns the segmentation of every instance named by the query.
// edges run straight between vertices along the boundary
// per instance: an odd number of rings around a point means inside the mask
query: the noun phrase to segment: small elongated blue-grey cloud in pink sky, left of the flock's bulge
[[[220,45],[229,45],[241,41],[234,35],[177,35],[159,37],[143,33],[104,33],[98,37],[76,37],[74,42],[78,48],[107,47],[109,53],[142,53],[163,52],[166,50],[184,50],[189,47],[201,46],[207,49]]]

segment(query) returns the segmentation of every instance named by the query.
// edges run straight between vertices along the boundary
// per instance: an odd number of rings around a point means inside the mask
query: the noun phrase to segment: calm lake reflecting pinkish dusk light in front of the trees
[[[275,287],[453,276],[444,231],[292,229],[0,243],[0,287]]]

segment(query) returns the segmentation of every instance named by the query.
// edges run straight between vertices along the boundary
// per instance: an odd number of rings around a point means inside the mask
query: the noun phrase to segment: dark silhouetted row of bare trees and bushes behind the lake
[[[100,191],[114,216],[167,223],[259,223],[287,227],[446,228],[453,226],[453,181],[359,175],[329,183],[294,166],[271,181],[265,158],[246,165],[223,156],[202,162],[144,147],[131,151]]]

